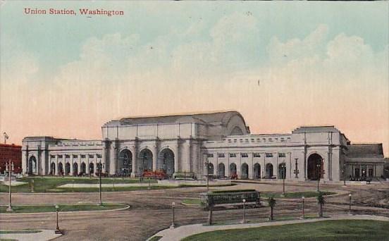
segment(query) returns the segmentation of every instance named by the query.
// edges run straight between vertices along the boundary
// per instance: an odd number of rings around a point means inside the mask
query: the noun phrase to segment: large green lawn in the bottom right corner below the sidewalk
[[[388,240],[389,222],[337,220],[298,223],[262,228],[218,230],[185,237],[193,240]]]

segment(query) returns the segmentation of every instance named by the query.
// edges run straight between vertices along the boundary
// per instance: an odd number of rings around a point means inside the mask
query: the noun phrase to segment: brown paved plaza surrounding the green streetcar
[[[389,217],[389,184],[372,185],[321,184],[321,190],[337,192],[326,197],[325,216],[348,214],[348,194],[352,193],[352,213]],[[229,187],[210,187],[211,190],[256,189],[261,192],[282,192],[280,182],[250,181]],[[287,183],[287,192],[315,191],[316,182]],[[187,187],[169,190],[142,190],[131,192],[104,192],[104,202],[129,204],[130,209],[106,212],[83,212],[60,214],[59,225],[64,235],[56,240],[147,240],[168,228],[172,222],[171,203],[175,202],[175,223],[179,226],[206,223],[208,212],[198,206],[184,206],[183,199],[199,197],[205,187]],[[14,205],[25,204],[78,204],[98,202],[99,193],[34,193],[13,194]],[[0,204],[8,204],[8,194],[0,194]],[[307,215],[317,215],[316,198],[305,199]],[[300,199],[277,199],[274,217],[301,216]],[[242,209],[220,209],[214,211],[216,223],[239,223]],[[55,214],[0,214],[2,230],[51,229],[55,228]],[[249,222],[266,221],[268,207],[248,208]]]

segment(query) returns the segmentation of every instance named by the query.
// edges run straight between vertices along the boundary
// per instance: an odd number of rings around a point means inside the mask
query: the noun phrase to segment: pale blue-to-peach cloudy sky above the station
[[[25,14],[24,8],[73,15]],[[82,16],[80,8],[123,11]],[[1,1],[0,131],[101,139],[125,116],[236,110],[389,154],[389,2]]]

